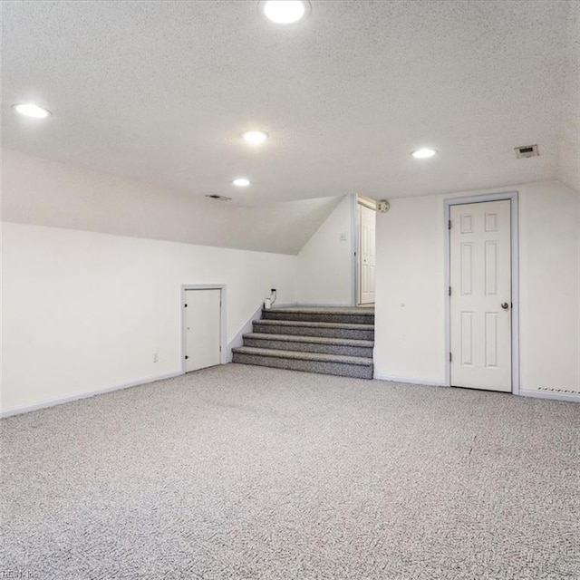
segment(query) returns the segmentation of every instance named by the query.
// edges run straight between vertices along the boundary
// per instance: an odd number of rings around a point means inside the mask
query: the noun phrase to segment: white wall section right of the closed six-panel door
[[[527,186],[519,216],[521,387],[580,392],[580,195]]]

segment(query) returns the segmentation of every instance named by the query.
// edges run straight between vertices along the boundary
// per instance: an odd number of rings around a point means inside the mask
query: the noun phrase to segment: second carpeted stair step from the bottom
[[[342,354],[372,358],[372,341],[328,338],[324,336],[301,336],[295,334],[244,334],[244,345],[270,350],[300,351],[307,353]]]

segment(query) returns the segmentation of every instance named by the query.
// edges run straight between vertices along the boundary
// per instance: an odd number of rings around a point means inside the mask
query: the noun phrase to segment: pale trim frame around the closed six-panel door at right
[[[465,198],[448,198],[445,203],[445,383],[451,386],[451,363],[449,353],[451,352],[451,299],[449,297],[449,286],[451,285],[450,267],[450,231],[449,219],[451,206],[459,206],[469,203],[481,203],[485,201],[510,201],[511,208],[511,391],[512,394],[519,394],[519,247],[517,235],[517,191],[507,191],[505,193],[490,193],[480,196],[469,196]]]

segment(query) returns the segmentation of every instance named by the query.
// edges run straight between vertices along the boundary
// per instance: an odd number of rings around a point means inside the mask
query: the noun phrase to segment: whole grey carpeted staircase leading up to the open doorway
[[[372,379],[373,308],[271,308],[253,330],[233,362]]]

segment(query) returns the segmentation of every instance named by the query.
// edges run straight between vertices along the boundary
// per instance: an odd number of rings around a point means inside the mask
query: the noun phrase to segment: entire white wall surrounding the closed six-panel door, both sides
[[[580,391],[580,196],[558,182],[391,200],[377,215],[375,375],[445,382],[444,207],[519,192],[520,389]]]

